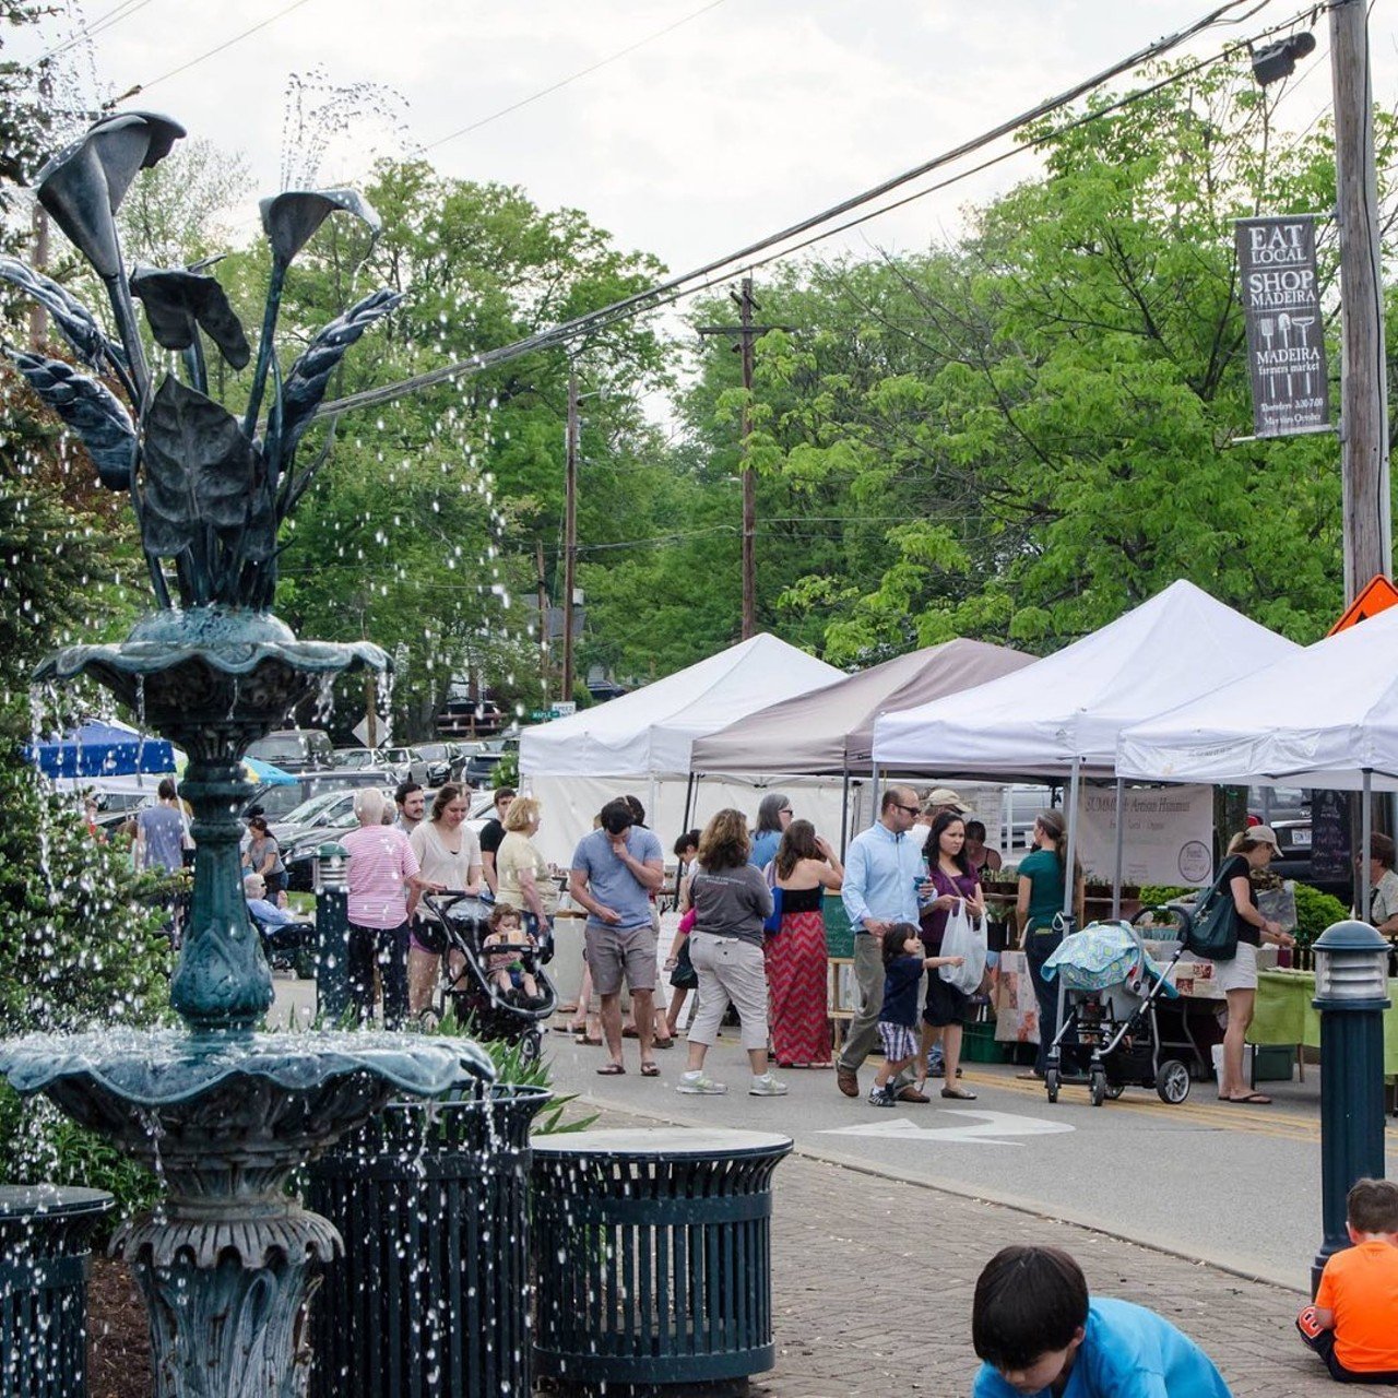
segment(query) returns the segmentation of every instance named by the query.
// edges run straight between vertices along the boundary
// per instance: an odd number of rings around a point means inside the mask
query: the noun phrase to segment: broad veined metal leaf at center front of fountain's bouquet
[[[238,419],[166,376],[144,419],[145,547],[200,554],[200,533],[226,540],[247,523],[257,459]]]

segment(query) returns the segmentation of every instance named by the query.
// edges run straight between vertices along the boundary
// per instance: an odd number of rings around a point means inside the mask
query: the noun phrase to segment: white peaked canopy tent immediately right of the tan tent
[[[917,709],[881,714],[874,724],[874,761],[879,768],[927,768],[948,776],[1068,779],[1071,863],[1079,781],[1116,774],[1123,728],[1229,679],[1255,675],[1299,649],[1192,583],[1172,583],[1025,670]],[[1117,832],[1120,868],[1120,821]]]

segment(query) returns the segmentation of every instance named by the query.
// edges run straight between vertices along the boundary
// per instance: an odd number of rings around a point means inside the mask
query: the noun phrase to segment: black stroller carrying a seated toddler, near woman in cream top
[[[544,1043],[542,1026],[558,1009],[558,991],[544,972],[548,945],[512,948],[523,969],[534,977],[538,997],[500,990],[485,969],[484,942],[489,934],[491,905],[474,893],[424,893],[418,903],[417,938],[442,955],[442,977],[432,1014],[442,1019],[447,1007],[460,1022],[470,1021],[481,1039],[519,1044],[520,1058],[533,1062]]]

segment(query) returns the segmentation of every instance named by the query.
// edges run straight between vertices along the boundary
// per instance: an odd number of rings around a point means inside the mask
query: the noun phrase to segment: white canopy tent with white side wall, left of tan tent
[[[548,858],[568,860],[601,804],[622,791],[642,797],[653,829],[678,833],[696,738],[842,678],[763,632],[619,699],[526,728],[520,777],[544,804],[537,843]]]

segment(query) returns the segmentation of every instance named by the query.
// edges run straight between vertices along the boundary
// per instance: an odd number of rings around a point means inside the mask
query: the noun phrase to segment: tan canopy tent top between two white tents
[[[1035,658],[981,640],[948,640],[914,650],[696,738],[689,765],[695,773],[868,776],[874,765],[874,720],[881,713],[973,689]]]

